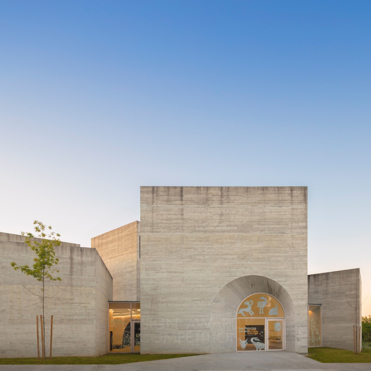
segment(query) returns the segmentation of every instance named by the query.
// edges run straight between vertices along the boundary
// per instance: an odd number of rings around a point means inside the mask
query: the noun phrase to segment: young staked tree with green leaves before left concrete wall
[[[42,302],[43,310],[43,328],[45,329],[45,284],[49,281],[61,281],[60,277],[53,277],[54,272],[59,273],[59,270],[53,268],[54,265],[58,264],[58,258],[55,257],[55,247],[60,246],[60,234],[55,232],[49,232],[52,227],[43,224],[41,221],[35,220],[36,236],[32,233],[22,232],[22,236],[26,236],[24,243],[30,247],[36,254],[36,257],[33,259],[34,264],[32,268],[28,265],[17,265],[15,262],[12,262],[11,265],[14,270],[20,269],[27,276],[32,276],[36,278],[37,281],[42,282],[41,294],[34,293],[29,290],[33,295],[39,296],[40,301]],[[47,231],[46,231],[47,230]],[[49,233],[47,233],[49,232]],[[34,237],[38,237],[41,241],[35,240]],[[28,289],[27,289],[28,290]],[[45,349],[45,336],[43,348]]]

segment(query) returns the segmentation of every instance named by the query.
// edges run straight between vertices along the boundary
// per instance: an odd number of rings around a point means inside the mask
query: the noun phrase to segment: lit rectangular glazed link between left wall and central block
[[[139,319],[140,303],[109,303],[110,353],[140,352]]]

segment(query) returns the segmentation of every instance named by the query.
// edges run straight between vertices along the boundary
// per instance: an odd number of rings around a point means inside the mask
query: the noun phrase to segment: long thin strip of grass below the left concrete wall
[[[121,363],[155,361],[156,359],[189,357],[198,354],[106,354],[101,357],[53,357],[37,358],[0,358],[0,365],[116,365]]]

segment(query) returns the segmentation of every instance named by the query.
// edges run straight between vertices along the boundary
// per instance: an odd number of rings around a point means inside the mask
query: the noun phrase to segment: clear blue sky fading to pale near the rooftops
[[[308,272],[371,314],[370,1],[2,1],[0,230],[140,220],[140,185],[308,185]],[[341,308],[339,308],[341,310]]]

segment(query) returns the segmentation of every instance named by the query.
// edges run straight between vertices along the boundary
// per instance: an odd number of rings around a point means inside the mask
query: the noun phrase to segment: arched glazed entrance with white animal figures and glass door
[[[247,296],[236,321],[237,352],[285,349],[285,311],[274,296],[262,292]]]

